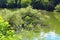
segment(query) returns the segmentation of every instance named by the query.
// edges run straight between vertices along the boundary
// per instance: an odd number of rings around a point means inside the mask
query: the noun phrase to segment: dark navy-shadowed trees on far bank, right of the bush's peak
[[[35,9],[42,9],[53,11],[55,6],[60,3],[60,0],[32,0],[32,7]]]

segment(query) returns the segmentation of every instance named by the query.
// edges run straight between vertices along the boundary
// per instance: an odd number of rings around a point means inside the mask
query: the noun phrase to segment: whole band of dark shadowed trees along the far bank
[[[52,11],[60,0],[0,0],[0,7],[23,8],[31,5],[34,9]]]

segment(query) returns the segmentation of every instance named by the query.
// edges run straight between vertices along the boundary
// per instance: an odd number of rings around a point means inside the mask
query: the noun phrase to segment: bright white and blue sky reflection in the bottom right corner
[[[41,32],[40,38],[41,38],[41,40],[43,38],[44,38],[44,40],[60,40],[60,35],[55,34],[55,32],[49,32],[49,33]]]

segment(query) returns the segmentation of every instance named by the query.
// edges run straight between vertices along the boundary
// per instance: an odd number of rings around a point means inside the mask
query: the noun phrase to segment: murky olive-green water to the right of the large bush
[[[60,34],[60,13],[48,13],[50,19],[48,22],[51,24],[51,30],[55,30],[57,34]]]

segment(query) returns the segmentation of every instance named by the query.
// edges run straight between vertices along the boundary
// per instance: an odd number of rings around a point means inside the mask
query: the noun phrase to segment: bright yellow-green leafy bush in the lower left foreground
[[[18,37],[9,26],[9,23],[0,16],[0,40],[22,40],[22,37]]]

